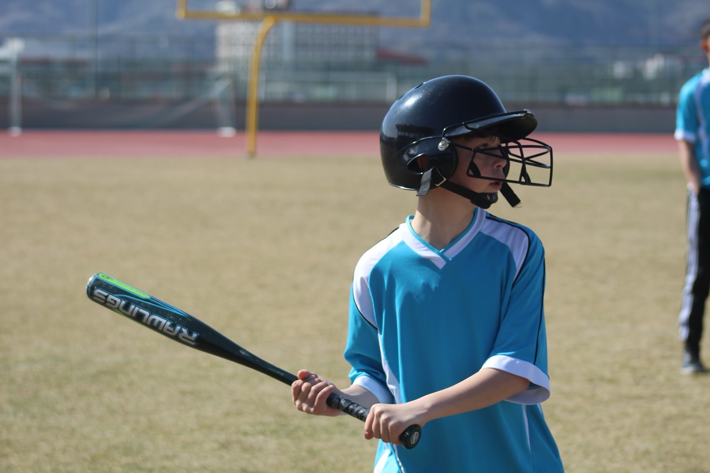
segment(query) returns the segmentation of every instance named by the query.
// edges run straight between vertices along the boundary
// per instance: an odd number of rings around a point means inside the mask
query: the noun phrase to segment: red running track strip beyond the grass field
[[[555,155],[564,153],[675,153],[672,134],[539,133]],[[378,156],[377,131],[260,131],[257,156]],[[43,131],[20,136],[0,131],[0,158],[62,156],[232,156],[244,158],[243,132],[223,138],[215,131]]]

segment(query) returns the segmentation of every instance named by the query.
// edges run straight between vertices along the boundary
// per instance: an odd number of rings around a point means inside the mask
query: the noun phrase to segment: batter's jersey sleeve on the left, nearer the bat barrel
[[[356,302],[358,296],[364,299],[360,304]],[[348,376],[352,384],[366,388],[381,403],[393,403],[393,396],[386,387],[377,327],[360,310],[360,307],[365,311],[371,308],[369,297],[365,281],[356,279],[350,291],[348,338],[344,353],[352,366]]]

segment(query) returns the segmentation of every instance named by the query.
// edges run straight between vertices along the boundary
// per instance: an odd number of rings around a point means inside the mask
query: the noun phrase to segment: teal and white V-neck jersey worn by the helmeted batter
[[[530,386],[487,408],[439,418],[412,450],[380,442],[377,473],[563,471],[540,403],[550,396],[545,255],[528,228],[476,209],[438,250],[400,225],[355,268],[345,357],[354,384],[404,403],[482,368]]]

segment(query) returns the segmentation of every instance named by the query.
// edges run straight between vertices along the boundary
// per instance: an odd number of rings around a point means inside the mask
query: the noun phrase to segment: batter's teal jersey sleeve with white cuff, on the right
[[[544,293],[545,250],[530,232],[525,258],[510,288],[496,342],[483,366],[508,371],[530,381],[526,391],[507,401],[536,404],[550,397]]]

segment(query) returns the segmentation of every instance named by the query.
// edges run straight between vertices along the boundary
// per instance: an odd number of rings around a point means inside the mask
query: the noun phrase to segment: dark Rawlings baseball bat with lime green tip
[[[116,278],[111,278],[108,274],[96,273],[89,278],[87,296],[95,303],[135,320],[188,347],[255,369],[289,386],[298,379],[295,374],[289,373],[240,347],[197,317],[193,317],[187,312]],[[367,418],[370,412],[365,406],[336,393],[328,396],[326,402],[328,406],[362,421]],[[419,442],[420,435],[420,426],[410,425],[400,435],[400,440],[405,448],[414,448]]]

